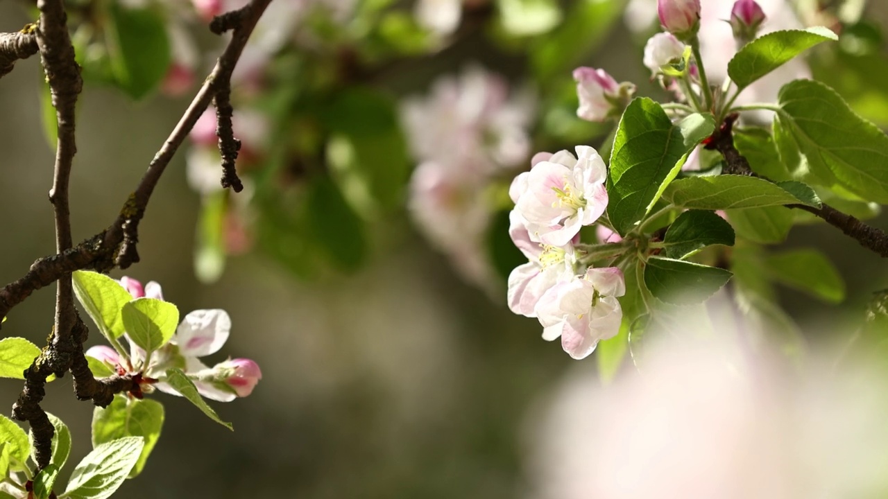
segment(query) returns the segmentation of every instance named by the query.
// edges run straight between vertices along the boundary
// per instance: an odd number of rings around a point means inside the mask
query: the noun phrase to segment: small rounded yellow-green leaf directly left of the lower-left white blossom
[[[138,298],[123,305],[123,326],[146,357],[166,345],[178,327],[178,308],[155,298]]]

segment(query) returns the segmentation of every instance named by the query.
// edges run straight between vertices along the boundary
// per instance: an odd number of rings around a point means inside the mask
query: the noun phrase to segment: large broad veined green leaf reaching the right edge
[[[797,80],[780,91],[781,125],[792,133],[814,175],[861,198],[888,203],[888,137],[854,114],[826,85]]]

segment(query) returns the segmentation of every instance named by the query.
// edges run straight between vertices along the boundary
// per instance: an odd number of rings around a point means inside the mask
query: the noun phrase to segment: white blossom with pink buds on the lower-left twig
[[[143,287],[141,282],[123,277],[120,283],[133,298],[163,300],[161,286],[155,281],[148,282]],[[201,357],[218,352],[225,345],[230,331],[231,318],[226,311],[195,310],[185,316],[170,342],[151,352],[147,358],[146,352],[131,341],[128,335],[124,337],[130,343],[129,353],[97,345],[87,350],[86,355],[99,360],[118,374],[138,375],[143,392],[152,392],[156,388],[161,392],[181,395],[164,381],[167,369],[181,368],[202,396],[228,402],[250,395],[262,379],[258,364],[250,359],[229,359],[212,368],[200,360]]]

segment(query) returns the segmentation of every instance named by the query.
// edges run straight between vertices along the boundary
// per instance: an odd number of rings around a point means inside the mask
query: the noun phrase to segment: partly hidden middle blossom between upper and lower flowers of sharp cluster
[[[509,213],[509,235],[515,246],[529,260],[515,267],[509,274],[507,293],[509,309],[526,317],[536,317],[535,306],[556,282],[575,277],[576,257],[574,243],[550,246],[531,241],[530,234],[518,212]]]

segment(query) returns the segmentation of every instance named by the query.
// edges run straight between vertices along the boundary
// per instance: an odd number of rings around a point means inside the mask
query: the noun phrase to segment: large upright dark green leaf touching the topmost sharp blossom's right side
[[[714,129],[711,115],[689,115],[673,125],[653,100],[632,100],[616,132],[607,176],[607,215],[619,234],[645,217],[686,155]]]

